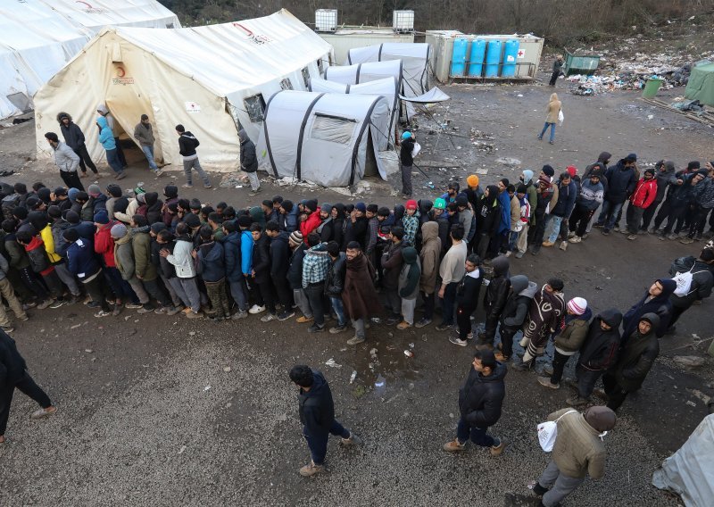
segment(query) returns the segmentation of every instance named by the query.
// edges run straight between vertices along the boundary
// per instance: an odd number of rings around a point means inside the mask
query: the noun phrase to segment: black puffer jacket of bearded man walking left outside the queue
[[[501,418],[503,398],[506,386],[506,365],[496,363],[494,371],[488,377],[474,370],[469,370],[466,383],[459,389],[459,411],[461,418],[470,426],[486,429]]]

